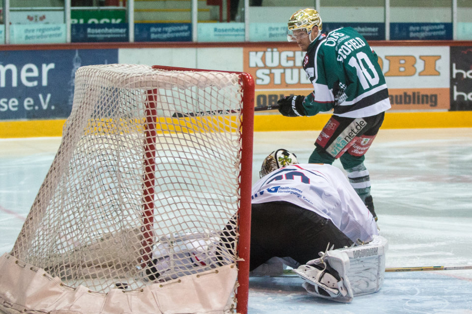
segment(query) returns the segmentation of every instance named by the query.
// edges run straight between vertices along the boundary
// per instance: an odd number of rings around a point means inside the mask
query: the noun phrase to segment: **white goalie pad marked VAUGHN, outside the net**
[[[354,296],[379,291],[385,273],[387,240],[375,235],[369,243],[320,252],[320,258],[294,269],[303,288],[317,297],[349,303]]]

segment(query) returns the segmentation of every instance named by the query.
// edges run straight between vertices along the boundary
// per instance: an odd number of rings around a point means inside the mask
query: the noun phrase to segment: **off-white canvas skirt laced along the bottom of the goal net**
[[[0,310],[8,314],[227,313],[228,295],[237,277],[231,264],[135,291],[111,288],[100,293],[85,286],[66,286],[59,277],[6,253],[0,258],[0,269]],[[201,291],[209,287],[211,293],[202,298]]]

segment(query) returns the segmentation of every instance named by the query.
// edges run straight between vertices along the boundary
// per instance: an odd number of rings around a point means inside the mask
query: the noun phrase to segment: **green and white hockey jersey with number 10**
[[[303,69],[314,87],[303,103],[308,116],[334,109],[337,116],[361,118],[391,107],[377,54],[352,27],[311,43]]]

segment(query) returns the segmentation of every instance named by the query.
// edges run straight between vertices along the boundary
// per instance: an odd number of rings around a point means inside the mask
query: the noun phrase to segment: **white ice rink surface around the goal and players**
[[[255,133],[253,182],[278,148],[307,162],[318,133]],[[13,247],[59,143],[0,139],[0,254]],[[365,164],[389,241],[386,267],[472,265],[472,129],[381,130]],[[249,314],[472,314],[472,270],[389,272],[379,292],[350,304],[317,299],[301,283],[295,276],[251,278]]]

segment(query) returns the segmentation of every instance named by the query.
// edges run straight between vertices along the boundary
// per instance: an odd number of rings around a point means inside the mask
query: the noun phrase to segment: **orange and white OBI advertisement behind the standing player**
[[[391,110],[449,110],[448,46],[372,48],[383,69]],[[296,45],[293,49],[276,44],[244,48],[244,72],[254,77],[256,106],[275,105],[283,96],[312,92],[301,66],[304,55]]]

